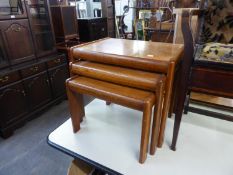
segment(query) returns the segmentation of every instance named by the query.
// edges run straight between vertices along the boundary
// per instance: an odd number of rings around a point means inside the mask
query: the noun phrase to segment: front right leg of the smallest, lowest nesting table
[[[146,104],[142,118],[141,146],[140,146],[140,157],[139,157],[140,163],[144,163],[147,157],[147,149],[148,149],[149,135],[150,135],[151,110],[152,110],[152,105],[149,103]]]

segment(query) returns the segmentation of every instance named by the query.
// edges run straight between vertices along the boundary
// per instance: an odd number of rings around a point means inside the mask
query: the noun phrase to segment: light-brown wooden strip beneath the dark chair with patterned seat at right
[[[192,92],[191,100],[233,108],[233,99]]]

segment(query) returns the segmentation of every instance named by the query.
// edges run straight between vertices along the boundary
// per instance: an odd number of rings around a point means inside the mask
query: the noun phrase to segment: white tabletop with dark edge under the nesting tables
[[[115,104],[106,106],[100,100],[94,100],[85,110],[79,132],[73,133],[69,119],[48,136],[48,142],[65,153],[76,154],[125,175],[233,174],[232,130],[226,133],[183,122],[178,149],[174,152],[169,149],[173,121],[168,119],[163,148],[139,164],[142,113]],[[194,114],[189,114],[192,119]],[[222,121],[213,119],[212,122],[221,124]]]

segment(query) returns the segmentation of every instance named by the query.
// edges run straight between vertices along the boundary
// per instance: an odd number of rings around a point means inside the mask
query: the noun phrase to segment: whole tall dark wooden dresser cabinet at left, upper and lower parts
[[[14,19],[0,13],[4,19],[0,21],[0,134],[4,138],[64,99],[68,77],[66,57],[55,49],[47,1],[20,2],[23,12],[14,13]]]

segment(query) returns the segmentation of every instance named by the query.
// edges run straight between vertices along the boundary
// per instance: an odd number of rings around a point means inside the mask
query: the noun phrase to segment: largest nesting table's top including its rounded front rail
[[[182,44],[156,43],[108,38],[73,48],[73,58],[167,73],[183,53]],[[75,60],[74,60],[75,61]]]

